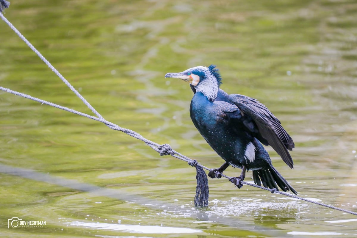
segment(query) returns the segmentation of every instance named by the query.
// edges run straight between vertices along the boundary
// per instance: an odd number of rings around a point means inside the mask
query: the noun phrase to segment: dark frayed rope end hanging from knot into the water
[[[206,207],[208,206],[208,179],[203,168],[197,163],[197,160],[192,160],[188,162],[193,167],[196,167],[196,196],[195,196],[195,207]]]

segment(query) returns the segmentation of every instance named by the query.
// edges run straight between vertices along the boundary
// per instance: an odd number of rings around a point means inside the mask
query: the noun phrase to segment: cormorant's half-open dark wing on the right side
[[[278,118],[266,106],[254,98],[240,94],[231,94],[228,98],[255,122],[259,135],[257,139],[259,140],[260,136],[265,139],[265,142],[273,147],[283,161],[290,168],[293,168],[293,161],[287,150],[292,150],[295,145],[292,138],[281,126]]]

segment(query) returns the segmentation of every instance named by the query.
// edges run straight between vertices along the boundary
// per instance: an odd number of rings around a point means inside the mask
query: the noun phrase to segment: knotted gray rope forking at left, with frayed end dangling
[[[197,170],[197,177],[199,176],[198,174],[201,173],[199,172],[200,168],[204,168],[206,169],[207,171],[210,171],[210,168],[207,168],[205,166],[202,166],[201,164],[199,164],[196,160],[192,160],[178,152],[176,152],[175,150],[173,150],[171,148],[171,146],[169,144],[164,144],[164,145],[159,145],[153,141],[150,141],[150,140],[147,140],[145,137],[141,136],[139,133],[135,132],[135,131],[132,131],[130,129],[126,129],[126,128],[123,128],[123,127],[120,127],[112,122],[109,122],[107,120],[105,120],[100,114],[99,112],[97,112],[94,107],[92,107],[90,105],[89,102],[87,102],[87,100],[60,74],[60,72],[58,72],[55,67],[53,67],[49,61],[47,61],[45,59],[44,56],[41,55],[41,53],[14,27],[14,25],[11,24],[11,22],[9,22],[4,15],[2,15],[1,11],[3,8],[7,8],[9,7],[9,2],[5,1],[5,0],[0,0],[0,17],[2,20],[4,20],[6,22],[7,25],[10,26],[10,28],[15,31],[15,33],[27,44],[27,46],[30,47],[30,49],[32,51],[34,51],[42,61],[45,62],[45,64],[53,71],[55,72],[55,74],[77,95],[77,97],[79,97],[87,107],[90,108],[90,110],[95,113],[95,115],[97,115],[97,117],[94,117],[94,116],[90,116],[86,113],[82,113],[82,112],[79,112],[79,111],[76,111],[76,110],[73,110],[71,108],[67,108],[67,107],[63,107],[63,106],[60,106],[60,105],[57,105],[55,103],[52,103],[52,102],[48,102],[48,101],[45,101],[45,100],[42,100],[42,99],[39,99],[39,98],[36,98],[36,97],[32,97],[30,95],[27,95],[25,93],[21,93],[21,92],[16,92],[16,91],[13,91],[13,90],[10,90],[9,88],[4,88],[4,87],[1,87],[0,86],[0,89],[2,91],[5,91],[5,92],[9,92],[9,93],[12,93],[14,95],[17,95],[17,96],[21,96],[21,97],[24,97],[24,98],[28,98],[28,99],[31,99],[33,101],[36,101],[36,102],[40,102],[42,104],[46,104],[46,105],[49,105],[49,106],[52,106],[52,107],[56,107],[56,108],[59,108],[61,110],[65,110],[65,111],[68,111],[68,112],[72,112],[74,114],[77,114],[77,115],[80,115],[80,116],[84,116],[84,117],[87,117],[87,118],[90,118],[92,120],[96,120],[96,121],[99,121],[99,122],[102,122],[104,123],[106,126],[108,126],[109,128],[113,129],[113,130],[117,130],[117,131],[122,131],[124,133],[126,133],[127,135],[129,136],[132,136],[134,138],[137,138],[138,140],[141,140],[143,142],[145,142],[148,146],[150,146],[152,149],[154,149],[156,152],[159,152],[161,156],[164,156],[164,155],[171,155],[172,157],[175,157],[175,158],[178,158],[178,159],[181,159],[183,161],[186,161],[188,162],[191,166],[195,166],[196,167],[196,170]],[[228,178],[230,179],[231,177],[229,176],[226,176],[225,174],[222,174],[222,177],[225,177],[225,178]],[[207,179],[207,176],[205,174],[205,177]],[[203,181],[204,179],[202,179]],[[198,181],[199,179],[197,178],[197,187],[196,187],[196,196],[199,197],[201,196],[200,192],[197,192],[197,189],[199,187],[199,184],[198,184]],[[350,213],[350,214],[353,214],[353,215],[357,215],[356,212],[352,212],[352,211],[348,211],[346,209],[342,209],[342,208],[338,208],[338,207],[334,207],[334,206],[331,206],[331,205],[328,205],[328,204],[325,204],[325,203],[320,203],[320,202],[315,202],[315,201],[312,201],[310,199],[306,199],[306,198],[302,198],[302,197],[298,197],[296,195],[293,195],[293,194],[290,194],[290,193],[285,193],[285,192],[280,192],[280,191],[277,191],[277,189],[270,189],[270,188],[265,188],[265,187],[261,187],[261,186],[258,186],[256,184],[252,184],[252,183],[247,183],[245,181],[242,181],[243,184],[246,184],[246,185],[249,185],[249,186],[253,186],[253,187],[256,187],[256,188],[261,188],[261,189],[264,189],[264,190],[267,190],[267,191],[270,191],[271,193],[279,193],[279,194],[282,194],[282,195],[285,195],[285,196],[288,196],[288,197],[292,197],[292,198],[296,198],[296,199],[300,199],[300,200],[303,200],[303,201],[306,201],[306,202],[310,202],[310,203],[315,203],[315,204],[318,204],[318,205],[321,205],[321,206],[325,206],[325,207],[328,207],[328,208],[332,208],[332,209],[336,209],[338,211],[342,211],[342,212],[346,212],[346,213]],[[201,184],[201,187],[202,187],[202,184]],[[207,191],[208,191],[208,186],[207,186]],[[202,198],[202,196],[201,196]],[[207,202],[206,202],[206,198],[207,198]],[[203,202],[202,202],[203,201]],[[208,194],[207,196],[206,195],[203,195],[203,200],[201,200],[201,204],[203,204],[202,206],[207,206],[208,204]],[[198,206],[196,204],[196,197],[195,197],[195,206]]]

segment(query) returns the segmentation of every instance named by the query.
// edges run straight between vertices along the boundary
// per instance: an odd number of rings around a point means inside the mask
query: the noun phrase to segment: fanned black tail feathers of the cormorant
[[[295,194],[297,192],[291,185],[281,176],[281,174],[271,165],[269,168],[258,169],[253,171],[254,183],[260,186],[260,181],[266,188],[276,188],[279,186],[282,191],[291,191]],[[279,189],[278,189],[279,190]]]

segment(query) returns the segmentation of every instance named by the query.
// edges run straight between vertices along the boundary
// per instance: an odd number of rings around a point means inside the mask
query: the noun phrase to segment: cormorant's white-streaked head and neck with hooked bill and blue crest
[[[167,73],[165,78],[177,78],[189,82],[194,91],[203,93],[210,101],[216,99],[218,88],[222,84],[221,75],[215,65],[197,66],[181,73]]]

